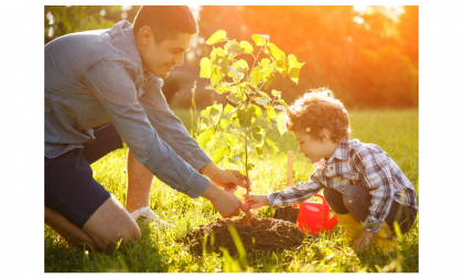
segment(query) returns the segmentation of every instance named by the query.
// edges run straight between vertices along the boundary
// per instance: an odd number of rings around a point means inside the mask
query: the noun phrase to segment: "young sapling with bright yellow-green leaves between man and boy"
[[[197,141],[201,148],[206,145],[209,149],[215,147],[214,163],[226,159],[238,164],[246,179],[256,167],[249,162],[251,153],[260,158],[266,143],[278,151],[267,131],[278,129],[281,136],[284,132],[282,121],[288,105],[281,98],[281,92],[272,89],[269,94],[265,90],[274,82],[277,73],[298,84],[304,64],[292,54],[286,56],[270,43],[269,35],[254,34],[252,40],[258,47],[256,51],[249,42],[229,40],[224,30],[218,30],[206,44],[226,43],[223,47],[213,46],[209,57],[201,60],[200,74],[211,79],[206,89],[228,94],[226,98],[235,106],[227,104],[224,108],[222,104],[214,104],[202,110]],[[260,54],[266,56],[259,61]],[[252,65],[238,58],[240,55],[252,56]],[[249,194],[249,188],[246,194]]]

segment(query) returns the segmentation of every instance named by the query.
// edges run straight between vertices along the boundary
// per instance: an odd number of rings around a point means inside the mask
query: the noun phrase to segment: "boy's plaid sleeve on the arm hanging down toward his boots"
[[[364,175],[365,186],[370,190],[372,205],[365,220],[364,229],[378,233],[394,202],[394,181],[389,160],[385,152],[363,148],[354,152],[352,162]]]

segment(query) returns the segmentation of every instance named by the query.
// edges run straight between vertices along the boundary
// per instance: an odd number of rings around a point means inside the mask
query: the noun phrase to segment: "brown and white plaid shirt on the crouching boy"
[[[389,213],[392,201],[417,206],[413,185],[400,168],[376,145],[342,139],[333,156],[314,164],[308,182],[267,194],[272,207],[299,204],[324,186],[343,193],[348,185],[362,185],[372,194],[372,205],[364,228],[377,233]]]

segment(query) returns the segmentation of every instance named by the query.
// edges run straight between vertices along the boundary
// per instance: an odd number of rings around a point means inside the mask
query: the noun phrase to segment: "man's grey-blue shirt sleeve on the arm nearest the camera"
[[[209,181],[179,157],[150,124],[137,99],[136,72],[125,61],[104,60],[88,71],[86,86],[138,161],[172,189],[191,197],[200,196]]]

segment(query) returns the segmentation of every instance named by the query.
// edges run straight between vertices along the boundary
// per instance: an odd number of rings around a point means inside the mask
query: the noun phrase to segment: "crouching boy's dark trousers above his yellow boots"
[[[370,206],[372,201],[368,189],[359,185],[352,185],[347,186],[343,193],[330,188],[324,188],[323,192],[326,202],[336,214],[352,213],[355,218],[365,222],[369,214],[368,207]],[[417,211],[414,209],[401,205],[394,201],[385,221],[394,234],[396,234],[394,222],[397,221],[400,232],[405,234],[410,231],[416,218]]]

